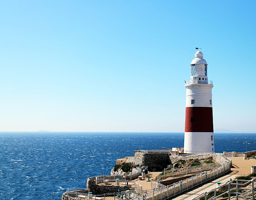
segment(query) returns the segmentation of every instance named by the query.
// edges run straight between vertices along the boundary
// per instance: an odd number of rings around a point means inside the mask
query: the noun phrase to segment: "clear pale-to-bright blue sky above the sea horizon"
[[[184,132],[195,48],[214,129],[256,132],[256,1],[5,0],[0,131]]]

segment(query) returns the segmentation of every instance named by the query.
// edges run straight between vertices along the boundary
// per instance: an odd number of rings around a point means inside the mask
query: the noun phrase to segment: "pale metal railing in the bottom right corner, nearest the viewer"
[[[234,180],[232,180],[228,183],[221,184],[220,186],[213,188],[212,190],[209,190],[208,192],[201,193],[198,196],[196,196],[195,198],[192,198],[191,200],[197,200],[197,199],[200,199],[201,197],[204,197],[205,200],[206,199],[207,200],[216,200],[217,198],[221,198],[224,195],[228,196],[228,200],[230,200],[231,196],[235,197],[236,200],[241,199],[241,198],[254,200],[256,197],[256,195],[254,194],[254,192],[255,192],[254,181],[255,180],[256,180],[256,178],[253,178],[252,180],[236,179],[235,183],[234,183]],[[244,188],[250,184],[251,184],[251,186],[249,188],[248,187]],[[228,188],[227,188],[227,191],[224,192],[223,190],[225,190],[225,187],[228,187]],[[222,194],[217,195],[217,192],[220,190],[223,191]],[[245,190],[245,192],[242,192],[241,190]],[[210,192],[214,192],[214,195],[210,198],[207,198],[207,194],[209,194]]]

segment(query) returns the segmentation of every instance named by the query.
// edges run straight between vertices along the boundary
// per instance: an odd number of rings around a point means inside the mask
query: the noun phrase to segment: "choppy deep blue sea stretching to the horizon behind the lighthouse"
[[[214,134],[215,151],[256,149],[256,134]],[[0,133],[0,199],[61,200],[134,150],[183,147],[184,133]]]

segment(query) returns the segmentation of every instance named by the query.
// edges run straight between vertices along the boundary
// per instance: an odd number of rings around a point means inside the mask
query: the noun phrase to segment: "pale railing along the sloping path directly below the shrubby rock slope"
[[[166,171],[164,171],[163,175],[158,175],[157,176],[157,181],[161,182],[161,180],[164,180],[166,178],[178,178],[178,177],[181,177],[181,176],[188,176],[188,175],[192,175],[192,174],[202,173],[204,171],[209,171],[209,170],[212,170],[214,168],[218,168],[220,166],[223,166],[224,164],[226,164],[226,162],[210,163],[210,164],[198,165],[198,166],[193,166],[193,167],[166,170]]]

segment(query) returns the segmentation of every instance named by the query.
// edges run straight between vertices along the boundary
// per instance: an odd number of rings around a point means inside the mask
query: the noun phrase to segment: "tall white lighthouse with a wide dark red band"
[[[184,152],[214,152],[212,81],[201,51],[192,60],[190,80],[186,81]]]

